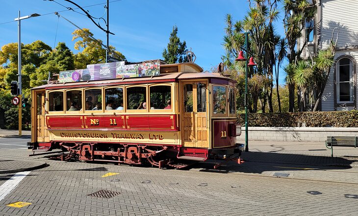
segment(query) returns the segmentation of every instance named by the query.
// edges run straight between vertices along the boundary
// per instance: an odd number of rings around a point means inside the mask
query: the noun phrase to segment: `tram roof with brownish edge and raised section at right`
[[[166,68],[170,69],[173,66],[179,66],[183,70],[181,72],[165,72]],[[184,66],[184,67],[183,67]],[[185,66],[190,66],[186,67]],[[36,89],[59,89],[59,88],[69,88],[69,87],[90,87],[90,86],[103,86],[110,84],[144,84],[144,83],[155,83],[155,82],[175,82],[177,80],[184,79],[225,79],[232,80],[231,78],[221,75],[220,73],[212,72],[203,72],[203,69],[194,63],[179,63],[179,64],[166,64],[161,65],[163,68],[163,73],[158,76],[148,76],[148,77],[129,77],[129,78],[117,78],[117,79],[107,79],[107,80],[96,80],[96,81],[80,81],[80,82],[68,82],[68,83],[49,83],[46,85],[38,86],[32,88]],[[194,70],[190,70],[190,68]],[[188,69],[188,70],[185,70]],[[234,80],[232,80],[234,81]]]

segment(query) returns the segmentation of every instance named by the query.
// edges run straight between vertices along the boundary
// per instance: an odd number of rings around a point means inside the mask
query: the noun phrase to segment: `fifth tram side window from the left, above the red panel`
[[[147,109],[146,87],[127,88],[127,109]]]

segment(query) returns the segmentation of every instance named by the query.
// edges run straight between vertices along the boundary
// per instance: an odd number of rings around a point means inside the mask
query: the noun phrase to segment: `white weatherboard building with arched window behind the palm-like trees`
[[[357,109],[358,61],[358,0],[313,0],[316,17],[307,20],[303,37],[298,41],[303,58],[314,56],[318,50],[328,48],[332,38],[336,44],[334,65],[322,96],[322,111]],[[313,26],[313,27],[312,27]]]

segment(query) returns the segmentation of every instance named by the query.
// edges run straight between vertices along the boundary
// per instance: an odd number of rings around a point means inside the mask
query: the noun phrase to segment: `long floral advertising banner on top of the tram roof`
[[[160,75],[159,62],[126,65],[122,61],[87,65],[86,69],[61,71],[58,81],[63,83],[157,75]]]

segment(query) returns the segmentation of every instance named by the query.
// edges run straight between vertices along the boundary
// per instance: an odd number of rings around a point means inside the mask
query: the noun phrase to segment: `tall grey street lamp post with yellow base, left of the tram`
[[[20,11],[19,11],[19,17],[15,18],[15,21],[18,21],[18,76],[19,76],[19,136],[21,137],[21,127],[22,127],[22,83],[21,83],[21,20],[28,19],[30,17],[38,17],[40,14],[31,14],[24,17],[20,17]]]

